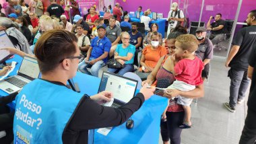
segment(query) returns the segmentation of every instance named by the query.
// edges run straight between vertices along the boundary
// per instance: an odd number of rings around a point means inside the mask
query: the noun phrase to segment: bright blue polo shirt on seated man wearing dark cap
[[[92,40],[91,46],[92,46],[92,52],[91,52],[90,58],[97,59],[98,57],[103,55],[104,52],[109,52],[111,47],[111,42],[110,40],[108,40],[108,38],[106,38],[106,36],[104,36],[104,38],[102,39],[99,39],[99,37],[97,36]],[[106,63],[106,61],[108,61],[108,57],[103,59],[103,61],[104,63]]]

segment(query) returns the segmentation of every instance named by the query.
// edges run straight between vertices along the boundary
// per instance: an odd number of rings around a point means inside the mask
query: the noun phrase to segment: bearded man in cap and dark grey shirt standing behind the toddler
[[[197,56],[203,61],[204,69],[202,71],[203,80],[207,79],[210,73],[210,60],[214,57],[214,46],[209,38],[206,38],[206,28],[199,27],[195,30],[195,36],[199,43],[195,51]]]

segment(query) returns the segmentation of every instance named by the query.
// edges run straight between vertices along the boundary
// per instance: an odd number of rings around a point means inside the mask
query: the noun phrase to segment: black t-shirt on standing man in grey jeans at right
[[[232,44],[240,46],[238,52],[229,64],[232,69],[247,71],[248,59],[256,42],[256,26],[242,28],[234,37]]]

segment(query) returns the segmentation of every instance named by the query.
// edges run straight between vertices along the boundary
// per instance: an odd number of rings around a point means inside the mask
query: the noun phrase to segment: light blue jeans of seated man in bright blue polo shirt
[[[92,60],[94,60],[94,59],[92,59],[92,58],[89,59],[89,61],[92,61]],[[100,70],[100,68],[102,67],[103,64],[104,64],[104,61],[102,61],[102,60],[97,61],[96,63],[94,63],[94,65],[87,64],[84,60],[81,63],[79,63],[78,69],[82,73],[86,73],[88,75],[93,75],[94,77],[98,77],[98,71]],[[87,68],[91,68],[91,72],[88,71]]]

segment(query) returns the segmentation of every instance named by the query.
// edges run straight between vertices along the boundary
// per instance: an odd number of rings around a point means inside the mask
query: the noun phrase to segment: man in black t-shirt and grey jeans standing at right
[[[247,16],[248,27],[242,28],[232,41],[232,48],[226,60],[225,66],[230,67],[228,77],[230,77],[229,103],[224,106],[235,112],[236,102],[241,104],[245,100],[245,93],[249,86],[247,78],[248,58],[256,42],[256,9]]]

